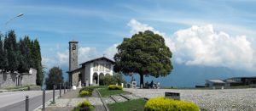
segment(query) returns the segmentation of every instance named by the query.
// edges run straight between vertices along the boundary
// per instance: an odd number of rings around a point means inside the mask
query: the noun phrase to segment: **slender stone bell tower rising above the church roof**
[[[69,71],[73,69],[78,69],[78,43],[76,41],[71,41],[69,43]]]

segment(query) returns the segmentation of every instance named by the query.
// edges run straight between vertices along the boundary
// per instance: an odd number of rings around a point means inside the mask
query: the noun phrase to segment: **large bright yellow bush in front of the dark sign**
[[[156,97],[148,100],[145,104],[145,111],[199,111],[199,107],[191,102]]]

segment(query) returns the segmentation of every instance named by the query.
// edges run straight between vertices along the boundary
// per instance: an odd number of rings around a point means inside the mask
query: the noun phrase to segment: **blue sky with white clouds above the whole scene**
[[[242,73],[236,76],[242,76],[256,70],[255,5],[253,0],[1,0],[0,31],[37,38],[47,69],[67,71],[69,41],[79,42],[83,63],[103,54],[113,58],[124,37],[151,30],[165,38],[173,64],[199,71],[238,69]],[[223,75],[228,74],[220,71],[217,77]]]

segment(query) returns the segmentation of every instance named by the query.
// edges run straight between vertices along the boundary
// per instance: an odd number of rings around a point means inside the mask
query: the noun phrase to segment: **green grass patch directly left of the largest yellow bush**
[[[123,103],[108,104],[108,108],[110,111],[143,111],[146,102],[145,99],[140,98]]]

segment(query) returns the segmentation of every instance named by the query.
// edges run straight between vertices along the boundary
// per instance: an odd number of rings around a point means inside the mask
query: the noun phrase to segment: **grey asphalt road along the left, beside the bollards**
[[[63,91],[62,91],[63,93]],[[43,91],[22,91],[0,93],[0,111],[25,111],[25,97],[29,96],[29,110],[32,111],[43,104]],[[55,91],[55,96],[59,91]],[[52,98],[52,91],[45,92],[45,102]]]

